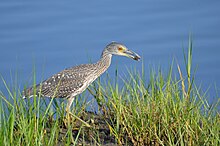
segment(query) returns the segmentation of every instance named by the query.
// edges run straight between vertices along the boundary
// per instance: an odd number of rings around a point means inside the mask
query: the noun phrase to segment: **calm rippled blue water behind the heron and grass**
[[[193,37],[196,83],[209,88],[211,102],[220,90],[220,1],[1,1],[0,74],[18,86],[31,84],[64,68],[95,62],[111,41],[126,44],[149,67],[166,72],[173,58],[174,70],[184,70],[183,48]],[[118,68],[141,69],[141,62],[114,57],[109,73]],[[178,75],[178,74],[177,74]],[[12,78],[12,79],[11,79]],[[1,91],[5,91],[0,82]]]

